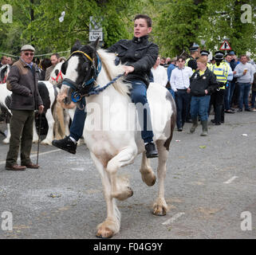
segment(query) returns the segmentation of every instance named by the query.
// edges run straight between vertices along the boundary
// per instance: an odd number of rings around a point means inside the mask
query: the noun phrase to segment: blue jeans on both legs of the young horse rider
[[[144,139],[144,143],[150,143],[153,141],[152,121],[150,108],[147,100],[147,86],[141,80],[134,80],[132,83],[132,102],[136,104],[138,111],[140,127],[142,128],[141,137]],[[139,104],[138,104],[139,103]],[[140,111],[140,105],[143,112]],[[70,136],[78,141],[83,135],[85,127],[85,110],[76,109],[72,124],[70,126]]]

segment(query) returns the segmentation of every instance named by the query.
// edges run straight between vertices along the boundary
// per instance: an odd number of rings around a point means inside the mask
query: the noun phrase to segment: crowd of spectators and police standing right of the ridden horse
[[[177,130],[192,123],[191,132],[201,121],[207,135],[207,120],[214,108],[211,123],[220,125],[225,113],[256,112],[256,65],[245,54],[217,51],[212,60],[210,52],[198,45],[190,48],[189,57],[158,57],[152,68],[154,81],[165,86],[175,98]],[[165,72],[163,71],[165,70]],[[167,80],[167,83],[165,83]],[[236,111],[235,108],[238,108]]]

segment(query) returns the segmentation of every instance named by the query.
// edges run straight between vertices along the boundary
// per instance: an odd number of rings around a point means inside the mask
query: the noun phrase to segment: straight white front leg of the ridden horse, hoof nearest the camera
[[[91,153],[93,162],[97,170],[100,172],[101,182],[104,188],[104,198],[107,203],[107,213],[108,216],[104,222],[100,223],[97,226],[96,237],[101,238],[110,238],[115,233],[118,233],[120,230],[120,211],[116,206],[115,199],[112,198],[111,195],[111,183],[108,176],[108,173],[105,171],[102,163],[100,163],[99,159],[96,158],[93,153]]]

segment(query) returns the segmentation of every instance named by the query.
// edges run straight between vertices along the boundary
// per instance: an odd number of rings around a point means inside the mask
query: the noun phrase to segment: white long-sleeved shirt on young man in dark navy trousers
[[[177,89],[187,89],[190,84],[189,78],[193,75],[193,70],[185,66],[183,69],[175,68],[171,72],[171,88],[175,92]]]

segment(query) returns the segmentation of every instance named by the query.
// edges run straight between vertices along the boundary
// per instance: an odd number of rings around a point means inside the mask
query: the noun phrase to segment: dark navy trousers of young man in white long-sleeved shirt
[[[177,128],[183,128],[187,117],[187,108],[190,102],[190,95],[187,89],[179,89],[175,92],[175,103],[177,108]]]

